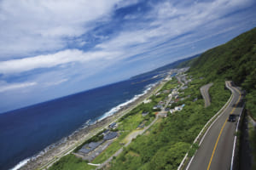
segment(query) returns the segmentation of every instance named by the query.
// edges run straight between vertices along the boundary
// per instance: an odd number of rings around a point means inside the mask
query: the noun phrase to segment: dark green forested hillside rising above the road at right
[[[256,28],[190,61],[189,71],[198,77],[205,77],[208,82],[229,79],[245,89],[247,110],[256,117]]]

